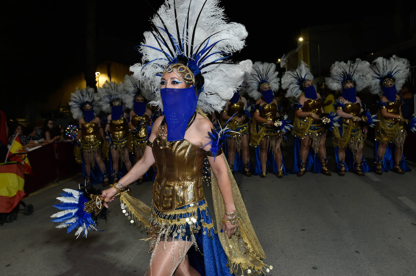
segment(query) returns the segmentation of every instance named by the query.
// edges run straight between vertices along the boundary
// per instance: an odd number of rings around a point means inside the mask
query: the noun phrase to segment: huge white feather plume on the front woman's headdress
[[[234,64],[225,59],[245,46],[247,31],[242,24],[227,23],[219,0],[166,0],[152,19],[153,30],[144,33],[137,46],[142,63],[134,64],[133,76],[156,91],[152,102],[163,110],[160,79],[169,64],[179,60],[204,78],[198,105],[204,112],[220,111],[251,70],[250,60]]]

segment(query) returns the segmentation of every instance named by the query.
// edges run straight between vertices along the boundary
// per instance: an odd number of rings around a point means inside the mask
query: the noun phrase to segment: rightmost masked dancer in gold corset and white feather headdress
[[[393,170],[404,174],[409,171],[403,154],[406,120],[401,115],[401,100],[396,87],[401,88],[409,75],[409,61],[397,56],[389,59],[379,57],[371,64],[373,71],[371,93],[381,94],[380,108],[377,112],[376,137],[376,173]],[[394,149],[393,149],[394,144]]]

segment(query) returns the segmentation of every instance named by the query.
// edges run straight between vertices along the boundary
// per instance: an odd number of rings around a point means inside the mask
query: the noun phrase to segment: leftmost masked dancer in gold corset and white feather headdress
[[[95,103],[94,89],[77,88],[75,93],[71,94],[68,105],[71,108],[72,117],[78,119],[77,140],[80,146],[75,146],[74,153],[78,163],[82,163],[81,153],[84,156],[84,178],[90,182],[91,172],[96,169],[97,163],[100,171],[93,174],[92,181],[102,182],[105,186],[108,184],[108,176],[101,154],[102,141],[105,137],[101,120],[95,115],[99,112],[99,107]]]

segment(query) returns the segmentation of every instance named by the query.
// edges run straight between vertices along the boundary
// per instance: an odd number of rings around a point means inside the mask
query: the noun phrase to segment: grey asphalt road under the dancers
[[[365,154],[371,155],[370,147]],[[416,275],[416,168],[411,168],[405,175],[364,177],[235,173],[266,261],[274,266],[268,275]],[[24,201],[35,212],[0,227],[0,275],[144,275],[149,245],[139,239],[146,233],[130,225],[118,200],[110,205],[109,220],[99,224],[102,232],[75,239],[75,231],[54,228],[52,205],[59,203],[62,188],[76,189],[80,181],[78,175],[32,193]],[[132,189],[150,203],[151,182]]]

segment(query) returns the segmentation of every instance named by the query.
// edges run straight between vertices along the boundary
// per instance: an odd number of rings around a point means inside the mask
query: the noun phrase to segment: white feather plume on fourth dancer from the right
[[[269,83],[273,92],[279,90],[279,72],[276,71],[276,64],[269,62],[256,61],[253,64],[253,71],[247,74],[246,83],[247,93],[251,98],[258,100],[262,93],[259,91],[260,84]]]

